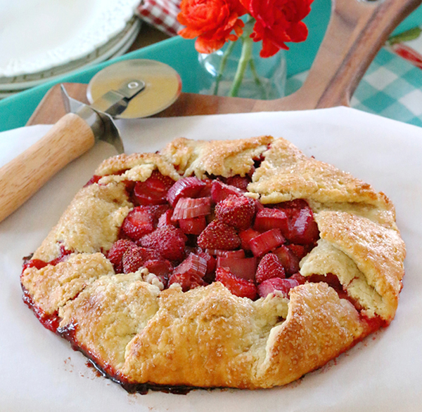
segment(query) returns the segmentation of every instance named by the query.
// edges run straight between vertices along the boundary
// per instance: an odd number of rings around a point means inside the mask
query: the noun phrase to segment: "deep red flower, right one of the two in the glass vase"
[[[313,0],[241,0],[255,18],[251,37],[262,40],[260,56],[276,54],[281,48],[288,50],[286,41],[304,41],[307,27],[301,20],[311,11]]]

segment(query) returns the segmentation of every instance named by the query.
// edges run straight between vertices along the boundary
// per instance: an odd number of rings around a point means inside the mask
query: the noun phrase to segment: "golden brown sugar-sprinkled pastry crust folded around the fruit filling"
[[[139,270],[115,274],[100,252],[117,239],[133,205],[122,180],[146,180],[155,168],[174,180],[245,175],[262,203],[305,199],[321,239],[300,263],[303,276],[335,272],[358,310],[328,284],[293,288],[290,300],[252,301],[219,282],[164,291]],[[390,323],[404,274],[405,248],[395,210],[381,192],[270,136],[231,141],[180,138],[159,154],[120,155],[98,167],[101,185],[82,189],[34,253],[49,261],[60,245],[75,251],[56,266],[27,268],[22,284],[46,314],[104,371],[125,383],[258,388],[284,385],[319,368],[371,331]]]

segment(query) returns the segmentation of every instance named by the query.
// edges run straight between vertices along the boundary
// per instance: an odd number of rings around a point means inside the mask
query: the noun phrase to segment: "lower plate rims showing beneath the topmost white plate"
[[[56,79],[64,74],[72,74],[72,72],[96,65],[110,58],[118,57],[132,46],[140,29],[141,20],[139,18],[132,18],[122,32],[114,36],[113,39],[110,39],[103,46],[96,48],[89,55],[84,56],[84,58],[44,70],[43,72],[0,78],[0,98],[37,86],[45,81]]]

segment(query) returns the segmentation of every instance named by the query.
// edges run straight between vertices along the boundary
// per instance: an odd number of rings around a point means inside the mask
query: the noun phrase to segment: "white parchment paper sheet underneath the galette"
[[[406,275],[392,324],[327,366],[272,390],[127,394],[96,373],[23,304],[22,258],[56,224],[102,159],[106,143],[72,162],[0,223],[0,411],[421,411],[422,128],[354,109],[226,114],[120,121],[126,152],[160,149],[173,138],[283,136],[308,155],[349,171],[392,199],[407,243]],[[49,126],[0,134],[0,163]]]

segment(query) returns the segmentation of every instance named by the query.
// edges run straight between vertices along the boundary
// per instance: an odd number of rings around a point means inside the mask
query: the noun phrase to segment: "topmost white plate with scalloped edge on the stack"
[[[139,0],[0,0],[0,77],[88,55],[121,32]]]

